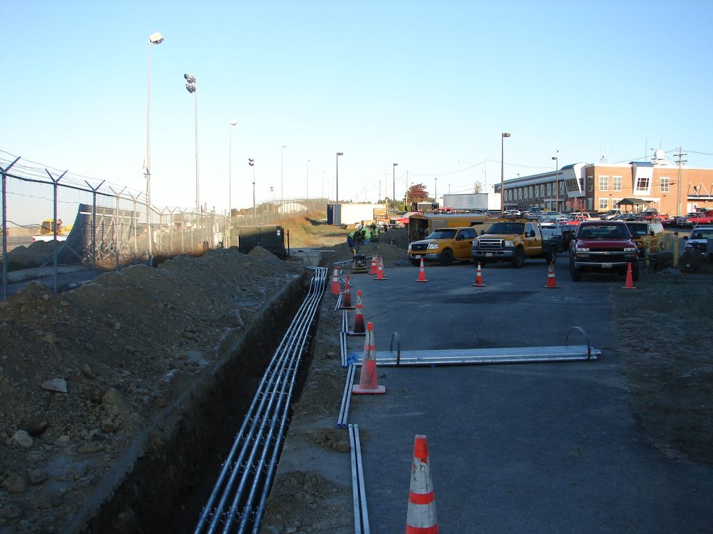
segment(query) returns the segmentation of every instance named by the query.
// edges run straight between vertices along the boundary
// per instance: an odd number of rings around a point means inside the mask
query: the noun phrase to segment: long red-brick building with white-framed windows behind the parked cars
[[[648,162],[628,164],[575,163],[557,172],[509,179],[505,182],[506,209],[557,211],[642,211],[654,208],[682,215],[697,208],[713,209],[713,169],[679,165],[657,150]],[[558,190],[559,189],[559,190]],[[496,193],[500,184],[495,186]]]

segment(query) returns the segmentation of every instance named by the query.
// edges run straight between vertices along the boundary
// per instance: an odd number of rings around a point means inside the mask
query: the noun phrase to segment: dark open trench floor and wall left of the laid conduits
[[[76,516],[73,533],[189,533],[311,274],[284,287],[250,330],[135,440]],[[314,328],[314,325],[312,325]],[[292,402],[312,360],[302,359]]]

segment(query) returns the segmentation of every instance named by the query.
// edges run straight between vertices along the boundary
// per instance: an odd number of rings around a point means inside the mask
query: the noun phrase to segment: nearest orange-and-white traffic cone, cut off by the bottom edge
[[[419,434],[414,441],[414,462],[411,464],[409,511],[406,513],[406,534],[438,534],[436,498],[429,467],[429,444]]]

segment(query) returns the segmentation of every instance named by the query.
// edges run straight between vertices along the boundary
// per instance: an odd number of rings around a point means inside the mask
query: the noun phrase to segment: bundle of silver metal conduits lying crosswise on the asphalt
[[[498,363],[583,362],[602,351],[587,345],[502,347],[456,350],[402,350],[399,365],[478,365]],[[396,352],[376,352],[379,365],[396,365]]]

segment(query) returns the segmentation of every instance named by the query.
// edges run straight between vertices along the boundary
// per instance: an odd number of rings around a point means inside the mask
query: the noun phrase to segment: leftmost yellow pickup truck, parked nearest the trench
[[[439,228],[420,241],[411,241],[409,244],[409,258],[411,263],[419,265],[421,258],[424,261],[438,261],[441,265],[451,265],[453,261],[471,261],[471,247],[476,239],[476,229],[467,228]]]

